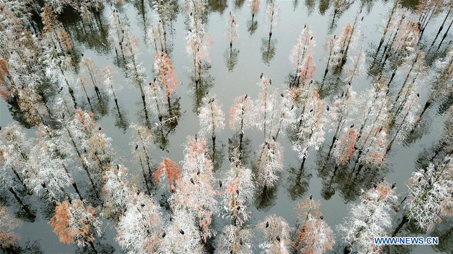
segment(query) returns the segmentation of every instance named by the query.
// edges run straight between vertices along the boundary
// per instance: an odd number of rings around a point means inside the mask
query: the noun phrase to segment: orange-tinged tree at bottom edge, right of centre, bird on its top
[[[299,227],[294,247],[298,253],[324,253],[335,244],[332,228],[324,221],[320,203],[307,198],[296,206]]]

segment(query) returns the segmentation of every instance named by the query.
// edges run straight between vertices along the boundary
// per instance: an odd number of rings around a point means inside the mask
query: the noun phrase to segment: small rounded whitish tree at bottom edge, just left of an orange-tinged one
[[[284,218],[275,214],[268,215],[257,225],[257,228],[263,235],[259,246],[264,250],[264,253],[291,253],[291,233],[293,229],[289,227]]]

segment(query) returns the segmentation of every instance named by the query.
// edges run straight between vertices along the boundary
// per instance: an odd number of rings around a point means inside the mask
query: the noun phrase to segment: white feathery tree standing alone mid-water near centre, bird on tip
[[[215,94],[203,97],[203,105],[200,108],[198,119],[200,121],[200,134],[208,137],[211,136],[212,142],[215,143],[215,134],[225,128],[225,114],[222,111],[222,104],[219,103]]]

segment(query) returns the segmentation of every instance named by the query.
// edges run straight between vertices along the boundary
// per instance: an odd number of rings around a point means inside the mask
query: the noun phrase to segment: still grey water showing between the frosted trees
[[[147,27],[153,22],[155,13],[149,3],[151,1],[127,2],[127,4],[119,8],[119,12],[121,17],[130,25],[133,34],[139,38],[139,51],[141,54],[138,59],[139,62],[143,62],[148,82],[154,76],[154,53],[150,45],[146,45],[145,37]],[[210,50],[210,68],[203,74],[201,85],[197,89],[192,77],[193,72],[190,70],[192,60],[186,53],[186,25],[182,13],[184,8],[182,2],[179,3],[175,10],[178,12],[174,13],[173,31],[168,35],[168,40],[171,43],[169,55],[175,66],[178,82],[180,82],[180,87],[175,97],[180,98],[179,110],[182,116],[178,120],[177,125],[174,126],[174,129],[167,130],[168,134],[156,134],[158,136],[156,145],[150,151],[150,155],[155,162],[160,162],[163,157],[169,157],[176,162],[183,160],[184,148],[182,145],[186,142],[188,135],[194,135],[199,130],[196,112],[201,97],[207,91],[217,94],[218,100],[223,105],[226,119],[228,119],[228,109],[235,97],[243,94],[249,94],[252,98],[258,96],[260,89],[256,83],[259,81],[259,76],[262,72],[269,76],[274,86],[281,90],[281,84],[287,82],[288,74],[293,71],[293,67],[288,60],[289,52],[305,24],[311,27],[314,39],[317,41],[314,51],[317,71],[314,79],[319,81],[322,80],[326,67],[324,60],[326,52],[322,47],[326,36],[338,34],[346,23],[353,21],[356,13],[361,9],[361,16],[364,16],[360,28],[364,35],[362,45],[367,53],[366,66],[369,66],[371,54],[375,51],[376,45],[381,39],[383,26],[386,22],[388,11],[392,6],[392,3],[388,3],[391,1],[356,0],[344,13],[336,15],[334,18],[333,1],[331,0],[278,1],[281,9],[280,17],[278,26],[273,29],[272,39],[269,42],[268,27],[264,23],[266,1],[261,1],[260,11],[254,17],[254,21],[257,21],[257,23],[253,26],[251,26],[252,15],[248,1],[216,0],[208,2],[208,14],[204,22],[207,33],[212,36],[214,44]],[[408,8],[410,12],[414,11],[416,4],[417,1],[415,0],[402,1],[402,5]],[[225,36],[229,12],[236,15],[240,34],[237,42],[233,44],[232,51],[230,51],[230,42]],[[100,16],[102,29],[98,26],[84,29],[78,16],[70,11],[63,13],[61,21],[70,33],[75,51],[77,51],[79,56],[83,53],[85,57],[90,57],[100,70],[105,65],[110,65],[117,72],[115,80],[123,87],[117,95],[121,115],[118,114],[113,101],[104,105],[99,105],[99,103],[95,102],[93,107],[97,121],[104,128],[106,135],[112,138],[112,145],[117,152],[118,159],[130,169],[130,174],[133,178],[143,185],[139,165],[134,162],[132,157],[133,145],[129,145],[132,131],[127,128],[130,123],[144,124],[140,92],[137,88],[129,85],[125,78],[124,68],[118,66],[114,51],[107,46],[106,31],[109,24],[107,13],[106,10],[103,10]],[[432,41],[444,16],[445,13],[440,14],[429,24],[421,44]],[[446,41],[449,40],[450,36]],[[440,50],[437,55],[428,57],[435,59],[436,57],[441,57],[442,54],[443,52]],[[343,82],[330,82],[329,87],[332,87],[332,89],[327,90],[325,94],[329,102],[330,98],[340,94],[345,88]],[[363,92],[370,86],[370,82],[370,75],[365,74],[354,81],[353,89],[358,93]],[[401,77],[397,77],[394,82],[401,84]],[[427,88],[422,87],[421,101],[423,103],[427,98],[426,92]],[[76,93],[78,92],[76,91]],[[92,96],[92,101],[96,101],[94,89],[89,90],[89,93]],[[89,110],[87,101],[80,91],[79,95],[77,98],[78,104]],[[20,113],[16,112],[15,108],[3,100],[0,106],[1,125],[5,126],[14,121],[21,123]],[[411,139],[408,144],[395,144],[392,147],[388,155],[387,166],[384,169],[377,173],[365,172],[357,178],[354,177],[351,171],[344,170],[333,175],[333,166],[323,167],[322,162],[333,137],[332,131],[326,135],[326,143],[321,151],[310,152],[303,169],[300,169],[301,162],[297,158],[297,154],[291,150],[290,141],[287,138],[282,138],[280,142],[285,148],[283,173],[280,176],[277,187],[270,193],[261,195],[260,191],[258,191],[254,204],[250,205],[249,208],[252,211],[251,224],[256,224],[268,214],[276,213],[284,217],[289,225],[294,226],[296,223],[295,204],[312,193],[314,199],[321,201],[321,211],[324,214],[324,220],[332,226],[336,233],[336,244],[333,252],[342,252],[344,243],[335,226],[347,215],[349,205],[359,200],[361,189],[370,188],[373,181],[379,181],[384,177],[388,182],[397,183],[397,192],[400,194],[400,199],[406,195],[407,187],[405,181],[411,172],[420,166],[417,160],[423,157],[425,149],[430,149],[442,132],[446,113],[445,110],[440,111],[437,108],[437,106],[431,107],[424,115],[421,134]],[[151,120],[155,121],[153,118]],[[29,129],[27,131],[28,137],[33,137],[35,131],[34,129]],[[162,137],[159,137],[159,135]],[[217,177],[222,177],[229,168],[228,155],[230,149],[234,147],[233,143],[235,143],[234,133],[228,127],[217,135],[215,151],[212,151],[211,148],[209,152],[215,163],[215,175]],[[247,166],[251,167],[254,151],[258,149],[261,143],[261,132],[257,130],[246,131],[245,150],[248,153],[244,155],[244,159]],[[75,173],[74,177],[84,193],[84,189],[86,190],[89,186],[86,175],[84,172],[80,172]],[[156,187],[154,190],[157,200],[165,199],[162,189]],[[166,194],[168,195],[167,192]],[[1,197],[2,203],[8,206],[10,213],[18,212],[19,205],[8,192],[2,192]],[[77,245],[65,245],[58,241],[57,236],[52,232],[52,227],[47,222],[51,211],[48,211],[44,201],[34,196],[28,196],[25,200],[36,209],[37,217],[34,222],[24,221],[20,228],[16,230],[21,235],[20,246],[23,248],[28,246],[31,250],[41,250],[46,253],[84,251],[78,248]],[[395,218],[395,226],[401,216],[402,214],[399,214]],[[228,220],[215,216],[212,226],[220,233],[223,226],[228,223],[230,223]],[[103,238],[96,240],[97,248],[99,247],[99,250],[103,249],[106,252],[121,252],[121,248],[115,242],[116,231],[114,226],[109,224],[108,221],[104,221],[103,229]],[[393,251],[412,253],[451,252],[453,242],[451,230],[451,220],[445,220],[434,230],[435,236],[440,237],[439,245],[434,247],[406,247]],[[406,233],[424,236],[424,234],[420,234],[417,231]],[[208,247],[210,251],[215,252],[216,242],[216,238],[212,240],[210,243],[212,246]],[[258,242],[259,239],[255,239],[254,252],[261,251],[258,247]]]

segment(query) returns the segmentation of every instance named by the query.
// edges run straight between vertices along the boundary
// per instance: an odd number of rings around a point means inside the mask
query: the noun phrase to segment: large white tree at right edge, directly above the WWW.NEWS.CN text
[[[441,217],[453,216],[451,157],[447,156],[441,162],[430,163],[425,169],[413,172],[408,181],[408,188],[409,202],[405,205],[407,212],[399,228],[413,219],[418,228],[431,230],[441,221]]]

